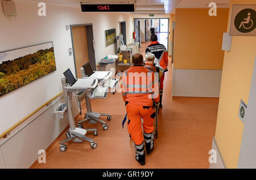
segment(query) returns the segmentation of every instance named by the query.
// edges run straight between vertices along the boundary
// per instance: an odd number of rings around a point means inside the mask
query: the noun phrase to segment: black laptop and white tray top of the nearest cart
[[[94,78],[75,79],[75,77],[73,76],[69,68],[63,74],[69,83],[69,86],[67,87],[67,89],[94,88],[98,83],[98,80]]]

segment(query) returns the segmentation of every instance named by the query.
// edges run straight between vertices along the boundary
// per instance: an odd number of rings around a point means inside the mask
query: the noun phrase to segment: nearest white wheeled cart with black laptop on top
[[[64,72],[65,78],[61,78],[61,84],[63,87],[65,104],[67,104],[68,110],[68,122],[69,129],[66,131],[66,139],[60,142],[60,151],[64,152],[67,149],[67,145],[64,143],[73,140],[73,143],[81,143],[82,140],[86,140],[90,142],[90,147],[95,149],[97,148],[97,142],[94,142],[93,139],[90,139],[85,136],[87,131],[93,131],[94,136],[98,135],[98,131],[96,128],[92,129],[83,129],[76,127],[75,120],[73,118],[72,113],[72,93],[73,92],[90,92],[96,88],[98,84],[98,80],[95,78],[91,79],[75,79],[72,72],[68,69]],[[66,83],[66,79],[68,83]]]

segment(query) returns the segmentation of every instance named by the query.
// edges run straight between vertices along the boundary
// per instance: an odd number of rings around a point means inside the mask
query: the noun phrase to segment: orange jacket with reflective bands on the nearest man
[[[143,66],[134,65],[123,72],[121,86],[123,101],[142,106],[151,106],[152,99],[159,102],[158,79]]]

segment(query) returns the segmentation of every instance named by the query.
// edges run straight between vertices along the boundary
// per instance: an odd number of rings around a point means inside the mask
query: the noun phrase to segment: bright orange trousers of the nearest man
[[[128,103],[127,112],[127,129],[134,143],[139,145],[144,141],[141,127],[141,118],[143,118],[143,131],[146,134],[154,132],[155,111],[152,106],[141,106]]]

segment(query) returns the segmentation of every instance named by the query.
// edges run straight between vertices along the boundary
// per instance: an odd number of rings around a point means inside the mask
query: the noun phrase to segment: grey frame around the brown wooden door
[[[71,41],[72,41],[72,52],[73,52],[73,61],[74,61],[74,65],[75,65],[75,72],[76,72],[76,77],[77,77],[77,71],[76,71],[76,55],[75,55],[75,49],[74,49],[74,41],[73,41],[73,32],[72,32],[72,28],[73,27],[80,27],[80,26],[84,26],[86,28],[86,26],[92,26],[92,33],[93,33],[93,24],[92,23],[88,23],[88,24],[71,24],[69,25],[70,27],[70,32],[71,32]],[[86,32],[86,36],[87,36],[87,32]],[[93,39],[94,39],[94,35],[93,35]],[[88,44],[89,46],[89,44]],[[92,53],[92,52],[91,52]],[[88,55],[89,55],[89,49],[88,49]],[[94,63],[93,63],[94,61]],[[95,52],[93,51],[93,55],[92,55],[92,59],[89,58],[89,62],[90,65],[92,65],[93,70],[96,70],[94,67],[94,64],[96,65],[96,58],[95,58]]]

